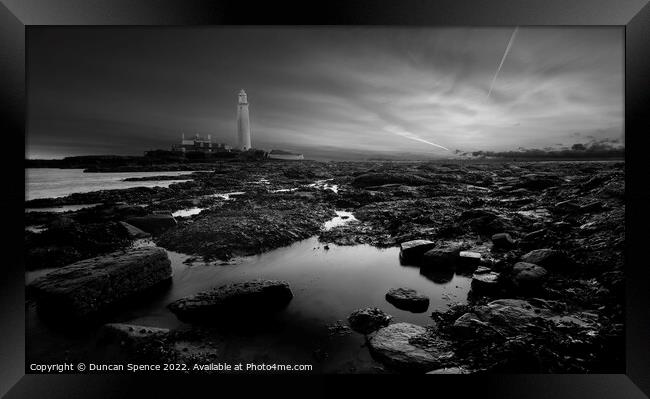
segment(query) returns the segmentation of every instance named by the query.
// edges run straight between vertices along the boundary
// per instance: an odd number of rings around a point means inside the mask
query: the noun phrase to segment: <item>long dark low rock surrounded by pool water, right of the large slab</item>
[[[180,320],[214,321],[220,316],[242,316],[283,309],[293,298],[289,283],[252,280],[226,284],[181,298],[168,305]]]

